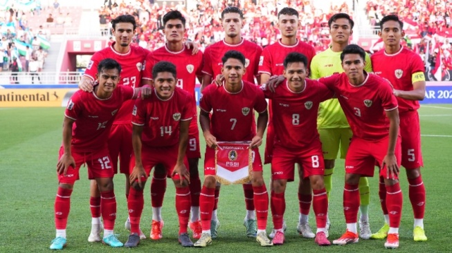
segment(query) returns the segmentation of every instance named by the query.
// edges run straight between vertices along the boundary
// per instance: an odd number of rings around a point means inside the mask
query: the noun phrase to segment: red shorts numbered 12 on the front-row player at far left
[[[60,156],[58,160],[64,154],[64,148],[60,147]],[[72,151],[72,157],[75,160],[75,168],[69,167],[66,176],[63,174],[58,175],[58,182],[67,183],[73,185],[76,180],[80,179],[79,169],[85,163],[88,166],[88,178],[113,178],[114,170],[113,164],[109,157],[108,149],[102,149],[100,151],[93,152],[75,152]]]

